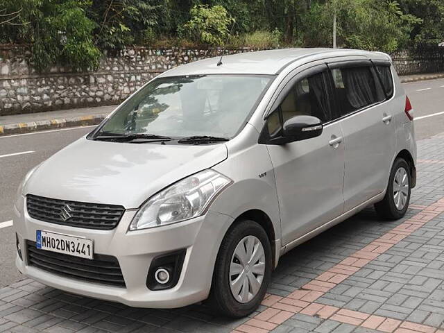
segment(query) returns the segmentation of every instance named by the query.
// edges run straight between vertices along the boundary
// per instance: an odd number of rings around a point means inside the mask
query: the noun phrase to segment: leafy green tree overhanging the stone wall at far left
[[[94,69],[101,52],[92,42],[94,22],[85,16],[85,0],[3,0],[18,12],[14,25],[2,26],[0,40],[30,44],[37,70],[60,63],[73,69]]]

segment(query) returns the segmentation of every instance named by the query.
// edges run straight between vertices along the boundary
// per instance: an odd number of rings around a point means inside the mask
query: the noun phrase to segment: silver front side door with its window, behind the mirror
[[[332,120],[325,84],[327,71],[291,80],[286,96],[268,117],[268,135],[282,124],[307,114],[327,123],[319,137],[283,145],[268,144],[275,170],[282,225],[282,244],[288,244],[343,213],[344,145],[339,123]]]

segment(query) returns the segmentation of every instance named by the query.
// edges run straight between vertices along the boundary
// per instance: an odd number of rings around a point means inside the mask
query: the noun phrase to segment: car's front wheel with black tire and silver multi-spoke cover
[[[243,242],[242,244],[241,241]],[[243,261],[247,263],[243,264],[239,260],[237,253],[244,250],[247,257],[249,257],[248,250],[244,244],[250,245],[253,241],[255,242],[254,248],[253,251],[250,252],[253,252],[253,254],[257,253],[259,258],[262,259],[256,261],[256,258],[254,258],[253,260],[257,264],[248,263],[248,261],[244,259]],[[259,250],[259,243],[256,241],[260,242],[260,245],[262,245],[264,257],[262,257],[262,252]],[[248,248],[251,247],[248,246]],[[257,252],[255,252],[255,250],[257,250]],[[250,257],[250,259],[252,258],[253,256]],[[230,275],[230,266],[232,262],[234,262],[234,266],[231,273],[239,269],[239,271],[241,271],[239,275]],[[272,271],[271,263],[271,245],[265,230],[258,223],[250,220],[244,220],[234,225],[234,227],[225,234],[221,248],[219,248],[216,264],[214,266],[212,289],[208,299],[209,305],[219,313],[230,317],[241,318],[251,314],[257,309],[257,307],[259,307],[259,304],[266,293],[268,284],[270,283]],[[255,290],[252,287],[253,284],[250,284],[249,281],[251,281],[250,278],[252,277],[256,278],[256,281],[257,279],[260,280],[261,275],[256,275],[255,273],[257,273],[262,266],[264,266],[262,284],[260,284],[259,289]],[[237,291],[232,291],[230,282],[235,282],[237,279],[239,279],[239,282],[247,279],[248,281],[246,283],[248,283],[248,289],[245,290],[252,292],[248,292],[248,295],[243,293],[244,283],[242,284],[239,293]],[[253,282],[255,281],[253,280]],[[239,284],[236,284],[236,286],[239,286]],[[255,284],[255,286],[257,286],[257,284]],[[233,289],[237,288],[233,287]],[[234,293],[237,295],[237,298],[234,297]],[[242,298],[242,296],[244,296],[244,298]]]

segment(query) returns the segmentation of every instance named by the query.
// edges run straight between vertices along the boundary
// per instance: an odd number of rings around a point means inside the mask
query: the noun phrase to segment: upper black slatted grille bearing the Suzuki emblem
[[[64,220],[62,209],[66,205],[69,205],[71,217]],[[80,203],[78,201],[44,198],[32,194],[26,196],[26,208],[29,216],[33,219],[97,230],[114,229],[125,211],[125,208],[117,205]]]

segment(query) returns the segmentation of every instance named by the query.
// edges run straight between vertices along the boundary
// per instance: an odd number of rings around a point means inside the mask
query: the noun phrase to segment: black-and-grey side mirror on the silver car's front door
[[[312,116],[296,116],[285,121],[282,137],[286,142],[301,141],[322,134],[321,119]]]

